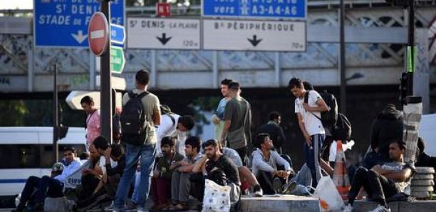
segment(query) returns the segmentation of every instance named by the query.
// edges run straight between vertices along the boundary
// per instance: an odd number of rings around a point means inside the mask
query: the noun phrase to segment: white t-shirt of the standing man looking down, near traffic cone
[[[317,107],[316,101],[322,100],[321,95],[315,90],[308,91],[308,106]],[[300,113],[304,120],[304,127],[309,135],[313,134],[326,134],[324,131],[323,123],[319,118],[321,118],[321,112],[308,112],[304,110],[303,107],[304,97],[302,99],[296,98],[295,100],[295,113]],[[317,116],[317,117],[315,117]]]

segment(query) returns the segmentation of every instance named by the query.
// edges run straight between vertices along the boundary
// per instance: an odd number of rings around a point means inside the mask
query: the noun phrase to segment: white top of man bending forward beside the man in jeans
[[[174,117],[174,124],[172,124],[172,120],[169,117]],[[186,132],[180,132],[177,129],[177,122],[179,121],[180,115],[177,114],[169,114],[162,115],[162,120],[160,120],[160,125],[157,127],[157,143],[156,143],[156,151],[157,154],[161,154],[162,150],[160,149],[160,142],[163,137],[172,136],[177,138],[176,143],[176,151],[185,156],[185,140],[186,140]]]

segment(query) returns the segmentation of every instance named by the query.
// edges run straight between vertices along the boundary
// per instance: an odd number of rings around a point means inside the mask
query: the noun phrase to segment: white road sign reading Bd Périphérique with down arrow
[[[306,51],[304,21],[203,21],[204,50]]]

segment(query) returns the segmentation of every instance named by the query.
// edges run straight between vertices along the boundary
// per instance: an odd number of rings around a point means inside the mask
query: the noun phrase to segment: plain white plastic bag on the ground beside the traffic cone
[[[319,198],[321,211],[336,211],[343,208],[343,200],[330,176],[323,176],[318,181],[313,196]]]

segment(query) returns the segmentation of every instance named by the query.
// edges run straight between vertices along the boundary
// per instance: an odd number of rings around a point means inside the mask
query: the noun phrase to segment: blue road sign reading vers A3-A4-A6
[[[306,19],[306,0],[202,0],[202,16]]]

